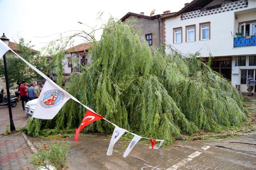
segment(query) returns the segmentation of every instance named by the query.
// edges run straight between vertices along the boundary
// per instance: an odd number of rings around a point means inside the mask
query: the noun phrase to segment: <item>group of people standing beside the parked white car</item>
[[[24,102],[28,102],[29,100],[34,100],[39,97],[40,92],[44,86],[44,84],[41,85],[41,88],[37,86],[36,82],[30,83],[30,86],[26,87],[27,82],[23,81],[20,85],[20,98],[21,98],[21,104],[23,107],[23,110],[25,110]]]

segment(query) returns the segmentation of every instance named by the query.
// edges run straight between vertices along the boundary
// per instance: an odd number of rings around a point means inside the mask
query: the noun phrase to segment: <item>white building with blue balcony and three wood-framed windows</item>
[[[167,45],[214,56],[212,69],[246,92],[247,76],[256,74],[256,0],[193,0],[162,20]]]

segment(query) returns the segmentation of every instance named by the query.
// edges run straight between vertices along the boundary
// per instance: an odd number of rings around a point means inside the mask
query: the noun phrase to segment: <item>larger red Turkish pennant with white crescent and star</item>
[[[86,127],[87,125],[91,124],[92,122],[98,120],[98,119],[103,119],[103,117],[101,115],[98,115],[96,113],[93,113],[90,110],[87,110],[84,118],[80,124],[80,126],[76,129],[76,135],[74,137],[75,141],[78,142],[78,136],[79,136],[79,132],[84,129],[84,127]]]

